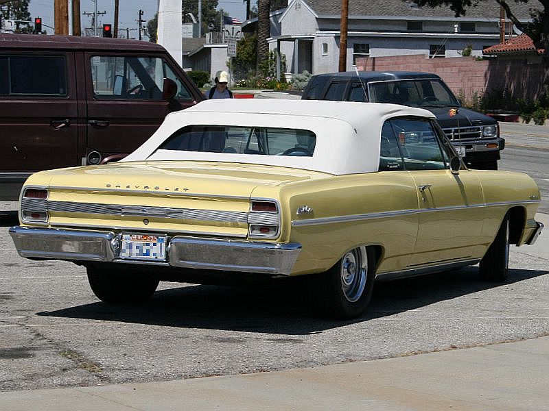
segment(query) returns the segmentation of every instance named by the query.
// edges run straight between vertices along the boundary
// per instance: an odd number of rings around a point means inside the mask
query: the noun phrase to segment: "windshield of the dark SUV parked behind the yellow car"
[[[370,83],[370,101],[410,107],[459,106],[458,99],[438,79],[401,80]]]

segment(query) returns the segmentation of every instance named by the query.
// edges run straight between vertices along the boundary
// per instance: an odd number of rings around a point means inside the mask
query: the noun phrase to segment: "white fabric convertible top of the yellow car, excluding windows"
[[[377,171],[384,121],[414,116],[434,119],[428,110],[404,105],[289,99],[219,99],[202,101],[166,116],[158,130],[124,162],[196,160],[286,166],[334,175]],[[316,134],[312,157],[156,150],[187,125],[234,125],[307,129]]]

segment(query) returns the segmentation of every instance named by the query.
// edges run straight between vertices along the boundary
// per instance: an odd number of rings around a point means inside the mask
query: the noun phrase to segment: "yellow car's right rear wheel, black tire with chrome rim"
[[[331,269],[310,279],[319,314],[331,319],[354,319],[364,314],[373,292],[375,258],[372,249],[348,251]]]

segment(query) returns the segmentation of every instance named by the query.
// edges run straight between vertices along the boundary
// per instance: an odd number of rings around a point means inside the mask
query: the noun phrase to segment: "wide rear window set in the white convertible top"
[[[189,125],[172,134],[159,149],[310,157],[315,145],[316,135],[304,129]]]

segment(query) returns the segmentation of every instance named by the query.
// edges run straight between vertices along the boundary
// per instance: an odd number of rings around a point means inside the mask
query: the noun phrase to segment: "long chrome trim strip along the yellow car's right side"
[[[495,207],[495,206],[517,206],[517,205],[522,205],[524,203],[539,203],[539,202],[540,202],[539,200],[502,201],[498,203],[469,204],[467,206],[419,208],[417,210],[395,210],[395,211],[386,211],[386,212],[372,212],[372,213],[366,213],[366,214],[351,214],[348,216],[324,217],[320,219],[292,220],[292,227],[301,227],[304,225],[346,223],[349,221],[362,221],[362,220],[371,220],[371,219],[384,219],[386,217],[407,216],[411,214],[419,214],[424,212],[465,210],[470,208],[483,208],[483,207]]]

